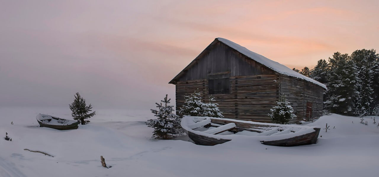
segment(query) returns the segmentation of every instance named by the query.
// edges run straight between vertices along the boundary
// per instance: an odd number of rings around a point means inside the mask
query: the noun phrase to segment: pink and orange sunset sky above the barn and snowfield
[[[0,106],[153,108],[216,37],[290,68],[379,50],[379,1],[2,1]],[[150,107],[149,107],[150,106]],[[142,108],[144,108],[142,107]]]

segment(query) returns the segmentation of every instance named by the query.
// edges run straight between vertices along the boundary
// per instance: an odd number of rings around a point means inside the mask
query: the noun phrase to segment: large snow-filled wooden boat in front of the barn
[[[213,146],[233,139],[260,141],[273,146],[310,145],[317,141],[319,126],[281,125],[214,117],[185,116],[182,128],[197,145]]]

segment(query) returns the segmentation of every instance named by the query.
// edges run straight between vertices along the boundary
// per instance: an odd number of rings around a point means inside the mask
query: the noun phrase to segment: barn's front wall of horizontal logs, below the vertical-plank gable
[[[208,102],[209,96],[215,97],[225,118],[271,122],[267,114],[279,98],[278,79],[276,74],[230,77],[230,94],[216,95],[208,94],[207,79],[179,81],[176,83],[177,114],[185,101],[184,95],[197,90],[203,102]]]

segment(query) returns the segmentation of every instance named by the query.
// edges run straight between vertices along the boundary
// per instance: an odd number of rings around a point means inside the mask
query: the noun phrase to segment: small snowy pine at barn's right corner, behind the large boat
[[[276,102],[276,106],[270,109],[271,114],[268,116],[271,118],[272,123],[288,124],[288,121],[296,118],[293,114],[293,108],[291,103],[287,101],[284,94],[280,95],[279,102]]]

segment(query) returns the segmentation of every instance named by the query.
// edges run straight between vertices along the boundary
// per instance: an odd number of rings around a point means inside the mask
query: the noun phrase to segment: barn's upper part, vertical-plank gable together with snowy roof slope
[[[243,60],[240,60],[241,58]],[[227,63],[227,65],[218,65],[219,63]],[[300,78],[326,89],[323,83],[299,74],[287,66],[274,62],[224,38],[216,38],[169,83],[174,84],[175,81],[207,78],[208,74],[225,71],[230,71],[230,76],[276,72],[281,75]]]

